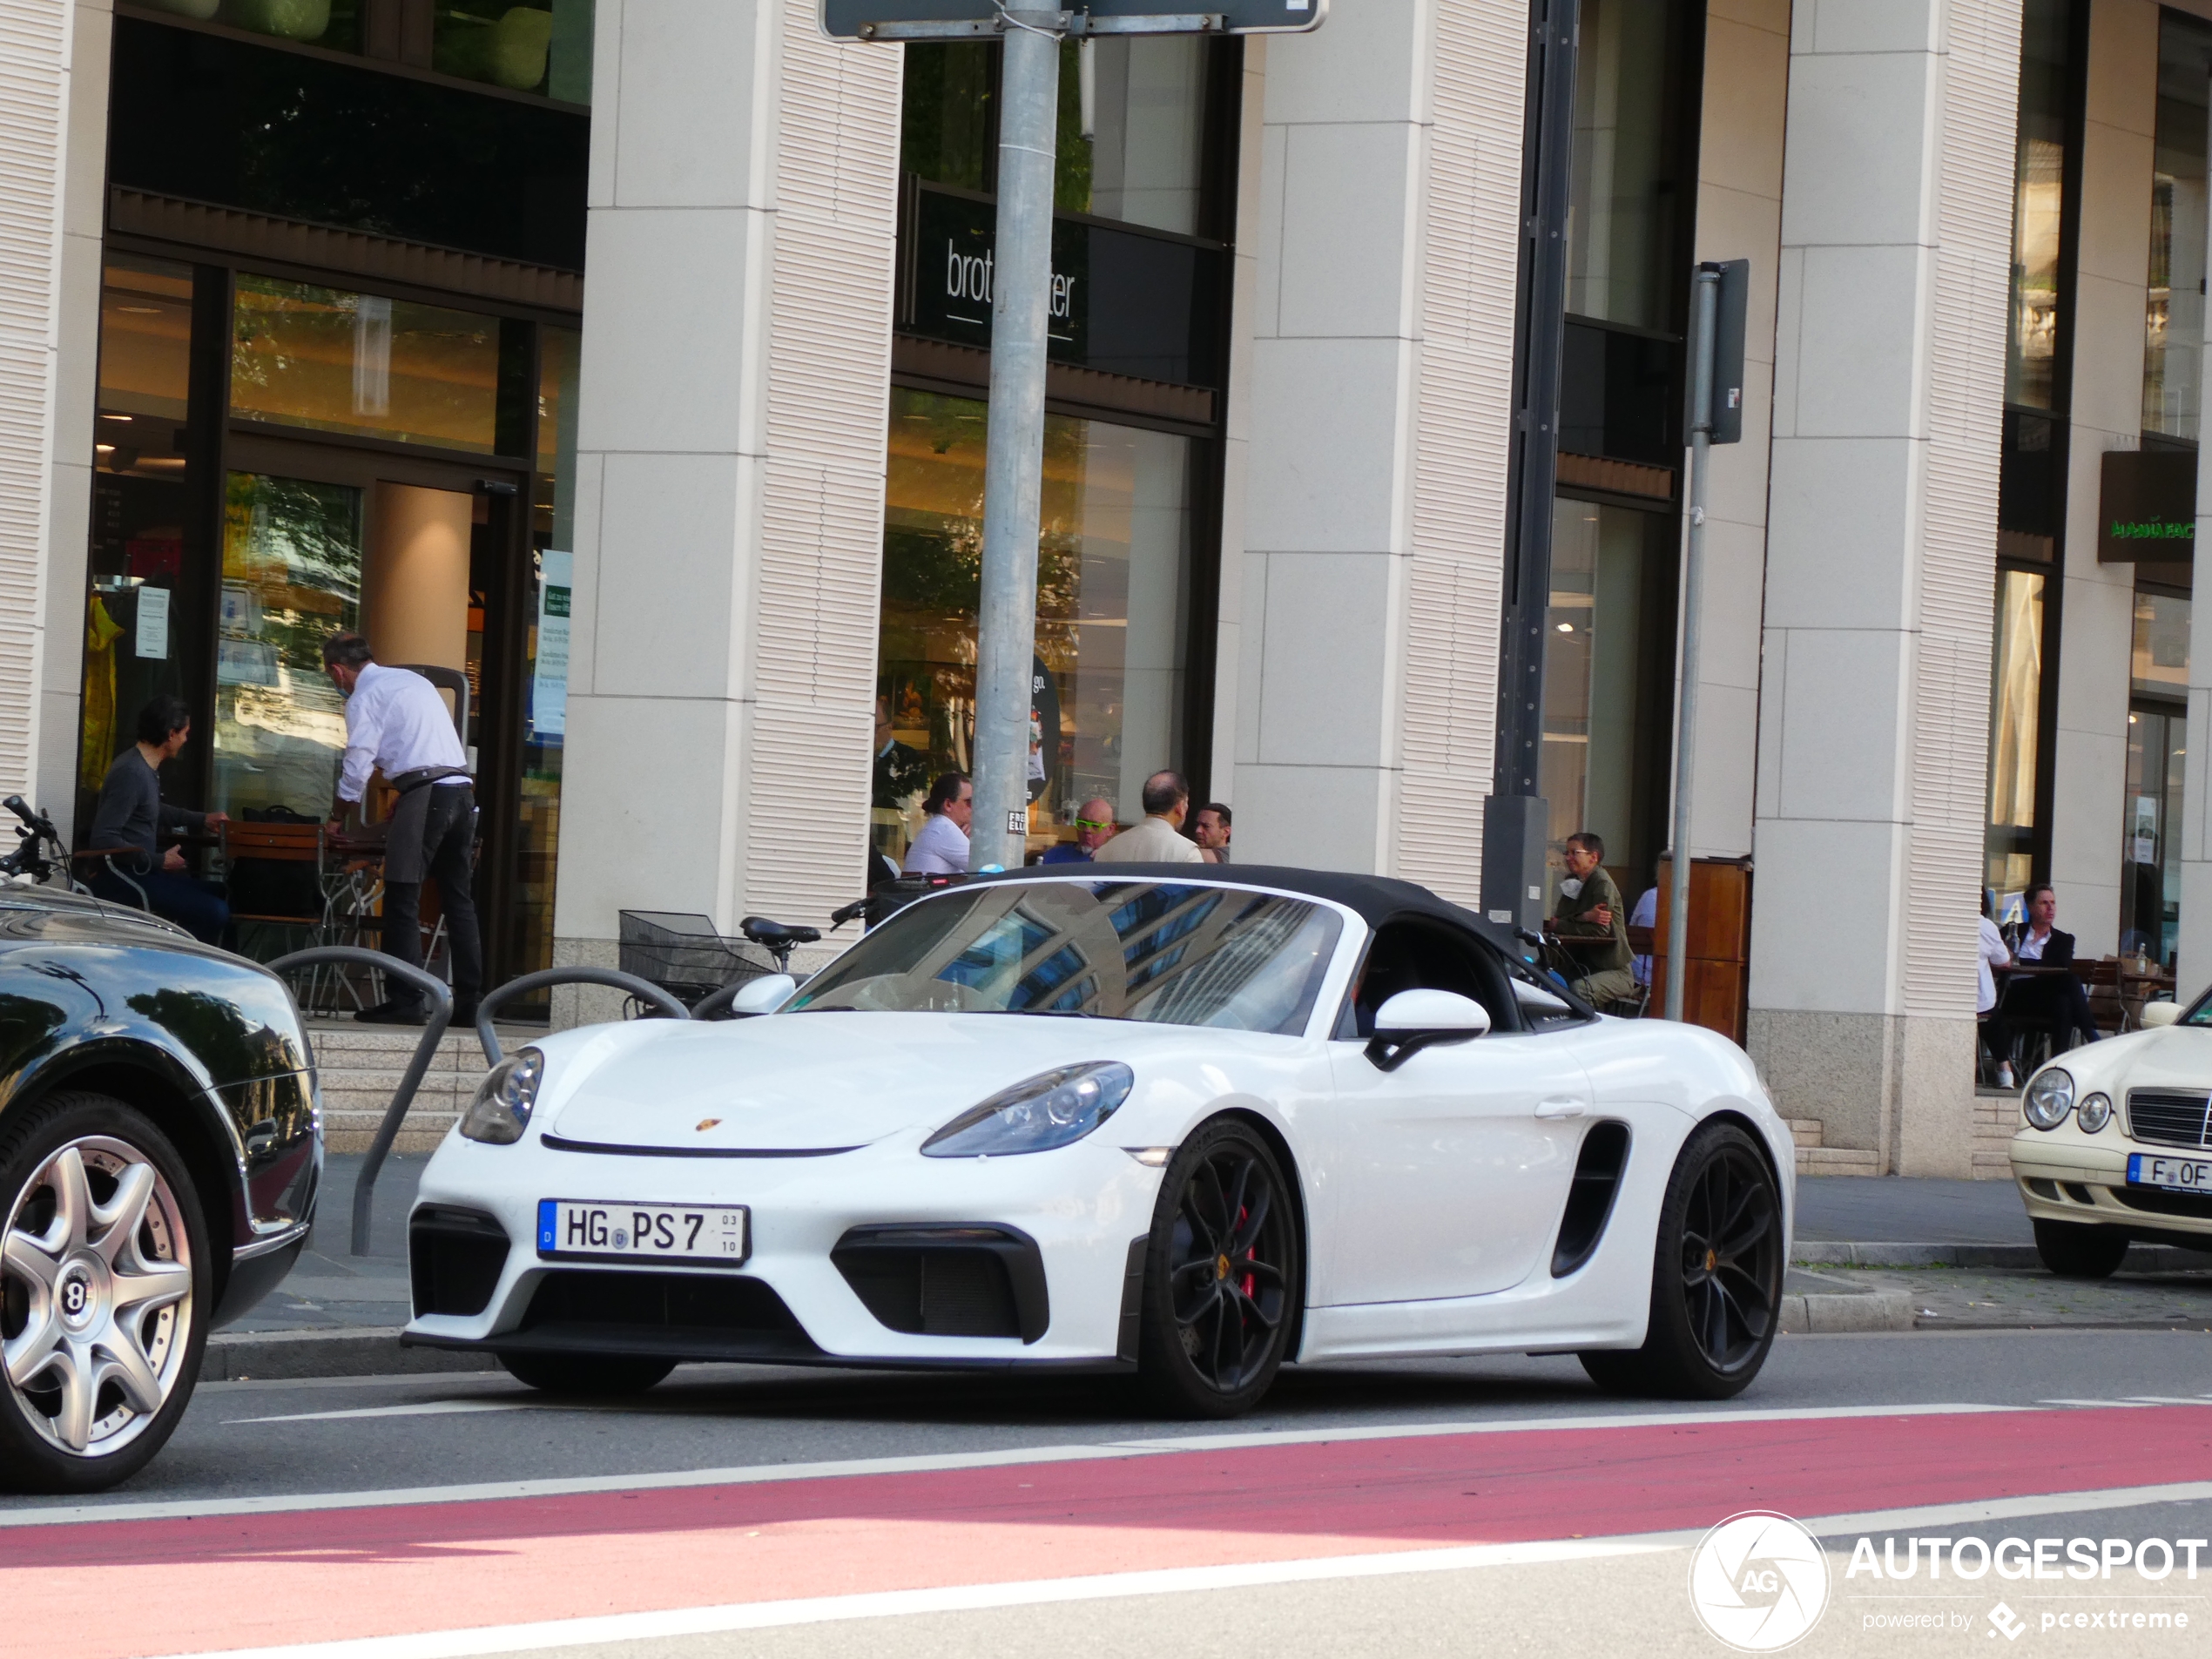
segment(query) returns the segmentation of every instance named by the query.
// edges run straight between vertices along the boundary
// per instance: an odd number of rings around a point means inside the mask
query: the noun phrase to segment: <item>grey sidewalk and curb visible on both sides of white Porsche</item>
[[[376,1179],[369,1254],[352,1254],[361,1155],[332,1152],[314,1237],[292,1276],[208,1343],[206,1376],[367,1376],[491,1369],[482,1354],[398,1345],[407,1323],[407,1212],[422,1155]],[[1785,1332],[2048,1325],[2212,1332],[2212,1254],[2137,1245],[2104,1283],[2053,1279],[2011,1181],[1798,1177],[1783,1285]]]

